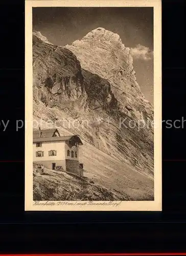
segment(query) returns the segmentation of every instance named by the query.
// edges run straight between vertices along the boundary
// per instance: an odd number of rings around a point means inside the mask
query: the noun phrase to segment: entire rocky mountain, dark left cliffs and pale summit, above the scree
[[[130,49],[119,35],[98,28],[72,46],[45,41],[33,34],[33,114],[45,121],[87,120],[88,124],[67,130],[121,165],[127,163],[152,177],[153,129],[138,131],[129,122],[153,120],[153,108],[141,93]],[[94,161],[99,159],[95,156]],[[115,177],[123,176],[121,168],[119,172]]]

